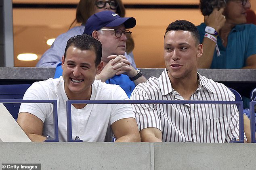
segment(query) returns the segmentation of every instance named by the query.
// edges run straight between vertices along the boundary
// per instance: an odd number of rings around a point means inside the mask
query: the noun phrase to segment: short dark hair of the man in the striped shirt
[[[195,25],[187,20],[176,20],[168,25],[166,28],[166,31],[164,33],[164,37],[168,31],[189,31],[192,33],[192,35],[195,37],[195,42],[198,45],[200,43],[200,35],[199,31],[197,30],[197,27]]]

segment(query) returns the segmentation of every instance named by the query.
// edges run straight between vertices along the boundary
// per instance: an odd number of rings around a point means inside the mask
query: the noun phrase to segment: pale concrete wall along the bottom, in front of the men
[[[0,165],[42,170],[255,169],[255,143],[0,143]]]

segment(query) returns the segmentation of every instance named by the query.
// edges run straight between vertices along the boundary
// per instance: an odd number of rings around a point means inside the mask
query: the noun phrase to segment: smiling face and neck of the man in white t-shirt
[[[68,47],[65,59],[62,58],[62,68],[64,88],[70,100],[90,99],[91,85],[103,67],[102,63],[96,66],[95,59],[94,49],[81,50],[73,45]]]

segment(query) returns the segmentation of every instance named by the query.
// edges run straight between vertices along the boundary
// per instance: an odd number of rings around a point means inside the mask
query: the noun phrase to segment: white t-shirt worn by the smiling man
[[[59,141],[67,141],[66,101],[62,76],[57,79],[33,83],[25,92],[24,100],[57,100]],[[106,84],[95,80],[92,84],[90,100],[129,100],[126,93],[118,85]],[[52,104],[22,103],[19,113],[27,112],[35,115],[44,123],[43,135],[54,137]],[[109,141],[110,125],[124,118],[135,118],[131,104],[87,104],[82,109],[71,105],[72,139],[76,136],[88,142]],[[107,135],[107,136],[106,136]]]

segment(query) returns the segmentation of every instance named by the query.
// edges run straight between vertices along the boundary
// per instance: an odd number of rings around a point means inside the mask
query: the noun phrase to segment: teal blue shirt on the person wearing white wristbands
[[[205,23],[197,26],[200,34],[200,42],[204,40]],[[218,36],[217,44],[220,49],[220,56],[217,56],[216,49],[210,68],[236,69],[246,66],[246,59],[256,54],[256,26],[253,24],[236,25],[228,36],[227,47],[222,45]]]

